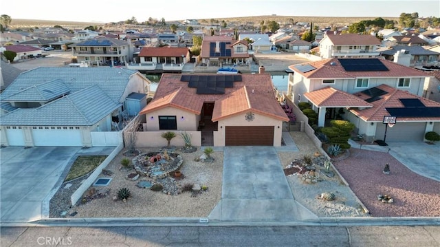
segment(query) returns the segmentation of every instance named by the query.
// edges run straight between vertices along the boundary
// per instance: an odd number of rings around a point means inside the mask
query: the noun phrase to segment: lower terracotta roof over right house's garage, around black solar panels
[[[390,113],[386,111],[386,108],[391,107],[404,107],[404,105],[399,100],[400,98],[417,98],[425,105],[426,107],[440,107],[440,103],[435,102],[434,100],[429,100],[427,98],[423,98],[417,96],[415,94],[410,94],[404,90],[399,90],[394,87],[390,87],[388,85],[380,85],[377,88],[388,92],[388,94],[382,95],[382,99],[373,101],[371,104],[372,108],[366,109],[351,109],[351,112],[356,116],[362,118],[366,122],[382,122],[384,120],[384,116],[389,116]],[[370,96],[362,93],[356,93],[359,98],[370,98]],[[405,121],[440,121],[439,117],[421,117],[421,118],[397,118],[397,123],[405,122]]]

